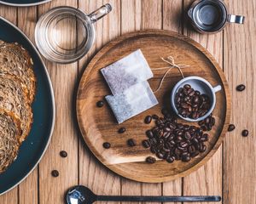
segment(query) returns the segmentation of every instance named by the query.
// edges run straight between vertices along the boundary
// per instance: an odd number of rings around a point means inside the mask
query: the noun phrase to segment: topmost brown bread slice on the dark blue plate
[[[36,77],[32,65],[29,53],[17,42],[0,42],[0,73],[8,73],[20,78],[29,90],[30,103],[36,91]]]

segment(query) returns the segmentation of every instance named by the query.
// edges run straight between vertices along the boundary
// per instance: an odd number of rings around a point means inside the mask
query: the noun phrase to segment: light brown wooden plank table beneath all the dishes
[[[38,17],[49,8],[69,5],[86,12],[103,3],[113,11],[96,23],[96,43],[83,59],[71,65],[45,60],[55,91],[55,131],[36,170],[26,180],[0,196],[1,204],[59,204],[65,190],[84,184],[98,194],[108,195],[222,195],[224,204],[256,203],[256,3],[255,0],[226,0],[230,13],[246,15],[245,25],[228,25],[215,35],[192,31],[185,18],[190,0],[53,0],[32,8],[0,6],[0,14],[14,22],[34,41]],[[200,42],[218,60],[230,85],[233,102],[231,122],[236,130],[227,133],[224,144],[210,161],[195,173],[164,184],[137,183],[110,172],[84,148],[75,120],[76,88],[90,58],[106,42],[130,31],[165,29],[182,33]],[[236,85],[244,83],[244,92]],[[241,130],[247,128],[247,138]],[[61,158],[67,150],[67,158]],[[60,176],[53,178],[57,169]]]

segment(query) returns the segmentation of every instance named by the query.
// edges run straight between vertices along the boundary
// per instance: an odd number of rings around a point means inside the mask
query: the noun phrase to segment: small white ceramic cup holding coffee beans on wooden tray
[[[194,88],[197,91],[200,91],[201,94],[207,94],[207,96],[210,98],[211,100],[211,108],[210,110],[207,112],[206,115],[201,116],[197,119],[192,119],[189,117],[183,117],[181,116],[178,111],[177,111],[177,107],[175,105],[175,95],[177,94],[177,91],[179,88],[183,88],[183,86],[185,84],[189,84],[192,88]],[[215,93],[221,90],[221,86],[218,85],[214,88],[212,88],[212,85],[207,82],[207,80],[205,80],[202,77],[185,77],[183,78],[181,81],[177,82],[177,84],[174,86],[174,88],[172,89],[172,94],[171,94],[171,105],[172,105],[172,109],[173,111],[175,111],[175,113],[177,114],[177,116],[181,117],[183,120],[189,121],[189,122],[199,122],[204,120],[205,118],[207,118],[207,116],[209,116],[212,111],[214,110],[214,107],[216,105],[216,95]]]

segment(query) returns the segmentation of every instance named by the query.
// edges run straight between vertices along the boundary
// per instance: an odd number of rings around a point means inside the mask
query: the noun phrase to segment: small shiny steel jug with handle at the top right
[[[196,31],[216,33],[227,22],[243,24],[244,16],[229,14],[222,0],[196,0],[188,10],[189,20]]]

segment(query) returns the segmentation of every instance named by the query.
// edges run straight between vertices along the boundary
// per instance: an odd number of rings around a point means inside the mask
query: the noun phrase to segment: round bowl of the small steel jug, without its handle
[[[226,20],[227,11],[224,4],[220,1],[204,0],[197,3],[192,10],[192,20],[202,31],[218,31]]]

